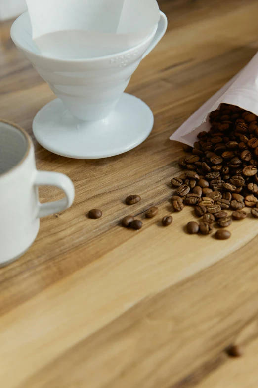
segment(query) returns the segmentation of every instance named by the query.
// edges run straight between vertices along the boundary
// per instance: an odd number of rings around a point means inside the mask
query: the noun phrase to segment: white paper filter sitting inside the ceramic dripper
[[[156,0],[26,0],[42,55],[83,59],[128,50],[160,19]]]

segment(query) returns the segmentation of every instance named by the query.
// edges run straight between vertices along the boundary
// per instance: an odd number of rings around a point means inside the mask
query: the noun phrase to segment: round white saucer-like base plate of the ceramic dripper
[[[41,109],[33,121],[37,141],[47,150],[75,159],[100,159],[137,147],[150,134],[154,117],[138,98],[124,93],[116,109],[100,121],[72,116],[60,99]]]

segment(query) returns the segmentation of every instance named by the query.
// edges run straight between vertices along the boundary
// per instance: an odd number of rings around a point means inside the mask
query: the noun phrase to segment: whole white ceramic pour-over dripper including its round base
[[[153,113],[123,93],[142,58],[167,29],[161,18],[140,45],[116,55],[63,60],[40,55],[31,35],[29,14],[13,24],[11,37],[58,97],[36,115],[33,132],[47,150],[77,159],[119,155],[142,143],[153,128]]]

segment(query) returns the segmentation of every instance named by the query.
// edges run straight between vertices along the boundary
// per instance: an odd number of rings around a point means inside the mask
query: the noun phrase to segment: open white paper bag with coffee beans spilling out
[[[237,105],[258,116],[258,53],[234,78],[192,114],[170,139],[193,146],[199,132],[209,131],[211,127],[209,113],[219,108],[221,103]]]

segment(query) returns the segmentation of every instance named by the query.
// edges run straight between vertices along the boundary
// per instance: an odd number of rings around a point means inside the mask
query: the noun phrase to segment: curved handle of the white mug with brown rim
[[[55,202],[39,204],[37,218],[50,216],[51,214],[62,212],[70,208],[74,202],[75,189],[73,182],[68,176],[59,172],[37,171],[34,182],[36,187],[39,186],[54,186],[63,190],[65,198]]]

